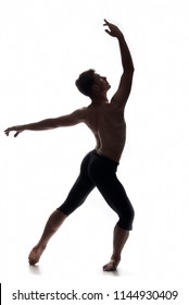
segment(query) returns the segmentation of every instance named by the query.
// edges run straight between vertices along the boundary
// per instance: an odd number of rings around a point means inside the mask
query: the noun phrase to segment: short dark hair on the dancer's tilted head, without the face
[[[92,96],[92,85],[94,83],[94,74],[96,71],[93,69],[89,69],[83,72],[81,74],[79,74],[79,77],[75,82],[78,90],[85,96],[88,97]]]

